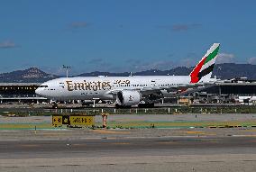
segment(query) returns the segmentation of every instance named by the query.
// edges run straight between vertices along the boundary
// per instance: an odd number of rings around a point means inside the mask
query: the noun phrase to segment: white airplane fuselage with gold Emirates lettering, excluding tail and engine
[[[164,89],[189,82],[189,76],[61,77],[41,84],[36,94],[54,100],[114,100],[118,90]]]

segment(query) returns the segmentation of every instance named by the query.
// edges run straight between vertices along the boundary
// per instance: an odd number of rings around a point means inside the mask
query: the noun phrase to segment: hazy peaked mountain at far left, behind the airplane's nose
[[[59,76],[47,74],[39,68],[28,68],[25,70],[16,70],[10,73],[0,74],[0,82],[4,83],[41,83]]]

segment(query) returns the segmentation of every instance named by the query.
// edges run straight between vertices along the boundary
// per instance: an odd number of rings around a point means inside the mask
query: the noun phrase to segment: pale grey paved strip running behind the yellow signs
[[[96,122],[102,122],[101,115],[96,115]],[[237,122],[256,120],[256,113],[195,113],[195,114],[110,114],[107,122]],[[51,116],[5,117],[1,123],[51,123]]]

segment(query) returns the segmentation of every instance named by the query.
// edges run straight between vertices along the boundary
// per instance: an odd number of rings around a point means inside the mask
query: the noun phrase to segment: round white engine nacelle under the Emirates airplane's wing
[[[116,103],[119,105],[129,106],[139,104],[142,100],[142,95],[138,91],[123,90],[117,93]]]

